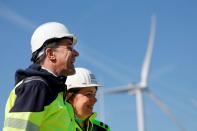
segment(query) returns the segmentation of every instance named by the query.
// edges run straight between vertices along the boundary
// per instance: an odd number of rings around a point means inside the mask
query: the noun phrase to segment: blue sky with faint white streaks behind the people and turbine
[[[95,73],[104,89],[136,83],[146,51],[150,18],[157,31],[149,77],[151,89],[187,131],[197,130],[197,2],[195,0],[0,1],[0,127],[14,73],[30,62],[34,29],[62,22],[78,37],[76,66]],[[98,98],[99,99],[99,98]],[[179,131],[147,96],[147,131]],[[112,131],[136,131],[135,97],[108,95],[95,111]],[[104,108],[102,108],[104,107]],[[101,112],[104,111],[104,112]]]

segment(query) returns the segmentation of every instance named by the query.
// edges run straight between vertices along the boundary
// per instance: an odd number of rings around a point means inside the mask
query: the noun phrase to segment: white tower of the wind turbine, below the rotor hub
[[[137,126],[138,131],[144,131],[144,104],[142,89],[136,88],[136,112],[137,112]]]

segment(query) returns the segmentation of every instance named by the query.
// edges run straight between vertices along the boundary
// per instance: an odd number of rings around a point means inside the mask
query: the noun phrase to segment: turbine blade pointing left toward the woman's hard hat
[[[136,87],[133,85],[128,85],[128,86],[107,89],[107,90],[105,90],[105,93],[106,94],[117,94],[117,93],[132,92],[135,90],[135,88]]]

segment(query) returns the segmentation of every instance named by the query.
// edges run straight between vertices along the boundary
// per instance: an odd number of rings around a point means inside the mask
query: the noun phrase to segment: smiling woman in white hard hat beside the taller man
[[[66,99],[75,112],[76,131],[109,131],[109,126],[96,120],[96,113],[93,112],[97,88],[100,87],[94,74],[85,68],[75,70],[76,74],[66,80]]]

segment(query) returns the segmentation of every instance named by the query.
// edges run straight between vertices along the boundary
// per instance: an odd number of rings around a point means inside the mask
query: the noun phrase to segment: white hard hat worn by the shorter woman
[[[68,76],[66,80],[67,90],[71,88],[85,88],[85,87],[100,87],[97,83],[96,77],[88,69],[75,68],[76,73]]]

